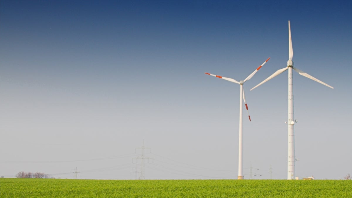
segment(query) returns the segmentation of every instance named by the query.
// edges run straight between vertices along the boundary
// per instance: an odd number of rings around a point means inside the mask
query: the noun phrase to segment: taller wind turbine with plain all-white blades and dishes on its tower
[[[251,91],[254,88],[257,88],[258,86],[262,85],[264,82],[274,78],[275,76],[283,73],[284,71],[288,70],[288,161],[287,161],[287,179],[295,179],[295,131],[294,131],[294,116],[293,116],[293,73],[292,69],[294,69],[298,74],[305,76],[309,79],[312,79],[316,82],[319,82],[327,87],[334,88],[316,78],[313,76],[307,74],[306,72],[303,72],[302,70],[299,70],[293,66],[293,48],[292,48],[292,41],[291,41],[291,27],[290,27],[290,21],[288,21],[288,39],[289,39],[289,60],[287,61],[287,67],[282,68],[277,70],[274,74],[269,76],[267,79],[263,80],[260,82],[257,86],[251,88]]]

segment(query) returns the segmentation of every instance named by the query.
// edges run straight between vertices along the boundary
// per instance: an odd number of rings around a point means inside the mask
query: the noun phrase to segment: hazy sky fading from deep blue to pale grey
[[[296,176],[352,174],[351,1],[0,2],[0,176],[287,179],[288,20]],[[141,149],[143,146],[145,149]],[[269,173],[271,169],[271,174]],[[250,175],[252,171],[252,175]],[[137,173],[137,174],[136,174]],[[260,175],[260,176],[259,176]]]

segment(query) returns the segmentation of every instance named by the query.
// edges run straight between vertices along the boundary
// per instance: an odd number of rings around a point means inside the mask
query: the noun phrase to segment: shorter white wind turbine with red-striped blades
[[[243,102],[242,99],[244,100],[244,103],[246,105],[246,109],[248,112],[248,118],[249,121],[251,121],[251,117],[249,116],[249,111],[248,111],[248,105],[246,102],[246,97],[244,94],[244,89],[243,89],[243,83],[246,82],[247,80],[251,79],[253,77],[254,74],[256,74],[258,72],[258,70],[266,63],[269,61],[270,58],[266,59],[266,61],[260,65],[256,70],[254,70],[254,72],[252,72],[246,79],[241,80],[241,81],[236,81],[232,78],[226,78],[226,77],[222,77],[222,76],[218,76],[218,75],[214,75],[214,74],[209,74],[209,73],[205,73],[211,76],[215,76],[230,82],[234,82],[240,85],[240,124],[239,124],[239,140],[238,140],[238,177],[237,179],[243,179]]]

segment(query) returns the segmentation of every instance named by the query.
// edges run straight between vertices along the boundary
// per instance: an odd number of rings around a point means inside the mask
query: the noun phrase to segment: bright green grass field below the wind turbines
[[[0,178],[0,197],[352,197],[352,180]]]

